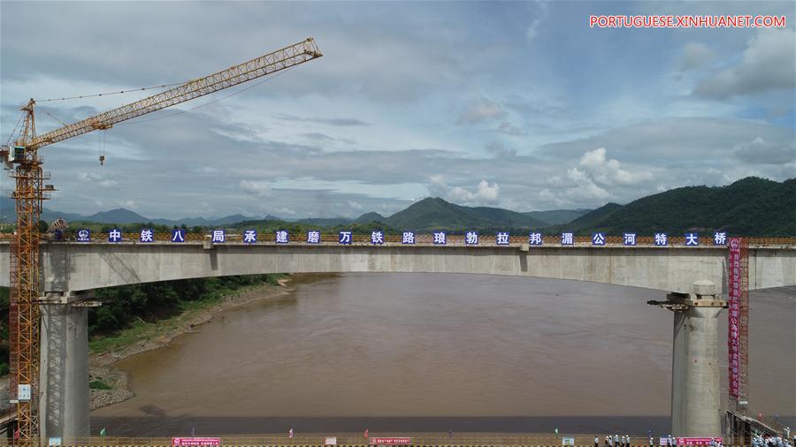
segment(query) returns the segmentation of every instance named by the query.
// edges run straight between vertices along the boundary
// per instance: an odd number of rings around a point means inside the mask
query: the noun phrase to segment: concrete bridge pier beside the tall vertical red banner
[[[650,302],[674,311],[671,360],[671,435],[721,436],[718,315],[727,302],[710,281],[692,293]]]

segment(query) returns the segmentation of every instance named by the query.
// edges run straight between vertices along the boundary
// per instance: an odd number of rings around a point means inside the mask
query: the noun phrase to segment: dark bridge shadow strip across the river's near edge
[[[103,427],[109,436],[254,436],[270,433],[621,433],[665,434],[669,416],[168,416],[159,409],[142,409],[151,416],[92,417],[91,433]]]

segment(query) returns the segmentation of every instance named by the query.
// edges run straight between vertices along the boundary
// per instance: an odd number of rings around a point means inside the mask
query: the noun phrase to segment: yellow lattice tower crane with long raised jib
[[[42,201],[54,188],[45,186],[49,172],[42,170],[38,150],[58,141],[83,133],[110,129],[113,125],[162,110],[180,102],[210,95],[224,88],[237,86],[273,72],[286,70],[298,64],[323,56],[310,37],[283,49],[191,80],[178,87],[131,102],[117,109],[88,117],[71,125],[64,125],[49,133],[36,134],[35,101],[31,99],[21,108],[24,124],[13,148],[4,148],[0,157],[11,166],[10,176],[16,179],[13,199],[16,201],[17,231],[11,242],[11,398],[17,400],[18,430],[14,437],[19,443],[34,443],[39,436],[39,283],[42,272],[39,265],[39,217]],[[103,157],[102,157],[103,158]],[[103,159],[101,158],[101,162]]]

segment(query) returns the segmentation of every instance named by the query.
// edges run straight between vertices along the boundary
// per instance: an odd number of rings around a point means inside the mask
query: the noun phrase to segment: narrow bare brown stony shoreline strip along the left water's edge
[[[228,309],[245,306],[262,299],[283,296],[293,290],[289,284],[293,283],[295,278],[301,277],[305,277],[305,275],[280,278],[277,281],[279,285],[264,283],[245,287],[224,296],[217,303],[207,307],[188,310],[157,322],[149,330],[152,332],[151,334],[149,332],[143,334],[144,339],[131,345],[126,345],[119,350],[111,348],[108,352],[89,353],[88,382],[99,381],[111,387],[109,390],[89,390],[89,410],[93,411],[103,406],[118,404],[134,396],[134,392],[130,390],[126,372],[114,366],[119,360],[142,352],[167,348],[175,338],[192,332],[197,326],[210,322],[216,314]],[[159,332],[159,330],[164,331]]]

